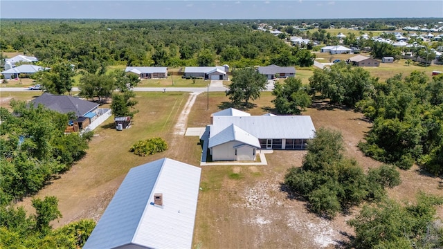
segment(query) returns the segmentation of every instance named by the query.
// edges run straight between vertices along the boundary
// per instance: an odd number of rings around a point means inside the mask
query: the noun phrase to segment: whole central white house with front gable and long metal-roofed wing
[[[208,148],[213,160],[255,160],[259,149],[306,149],[310,116],[251,116],[236,109],[213,113]]]

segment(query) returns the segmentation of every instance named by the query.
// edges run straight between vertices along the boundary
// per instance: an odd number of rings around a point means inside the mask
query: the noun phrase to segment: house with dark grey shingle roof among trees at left
[[[76,120],[71,120],[68,131],[81,131],[91,124],[98,116],[108,109],[98,109],[99,104],[68,95],[53,95],[43,93],[30,102],[34,107],[43,104],[47,109],[59,113],[75,113]]]

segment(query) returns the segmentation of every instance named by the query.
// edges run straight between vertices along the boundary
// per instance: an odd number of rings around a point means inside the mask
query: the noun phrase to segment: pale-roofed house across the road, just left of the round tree
[[[228,80],[229,66],[186,66],[183,77],[204,80]]]

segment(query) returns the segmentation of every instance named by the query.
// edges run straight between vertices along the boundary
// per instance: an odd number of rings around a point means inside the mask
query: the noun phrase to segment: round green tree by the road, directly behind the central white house
[[[242,68],[233,71],[233,79],[226,91],[226,96],[234,104],[260,98],[260,93],[266,89],[266,76],[258,73],[255,68]]]

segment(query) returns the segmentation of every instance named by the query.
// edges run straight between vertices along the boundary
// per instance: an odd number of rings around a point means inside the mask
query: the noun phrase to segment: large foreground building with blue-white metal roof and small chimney
[[[133,167],[83,248],[192,248],[200,174],[169,158]]]

